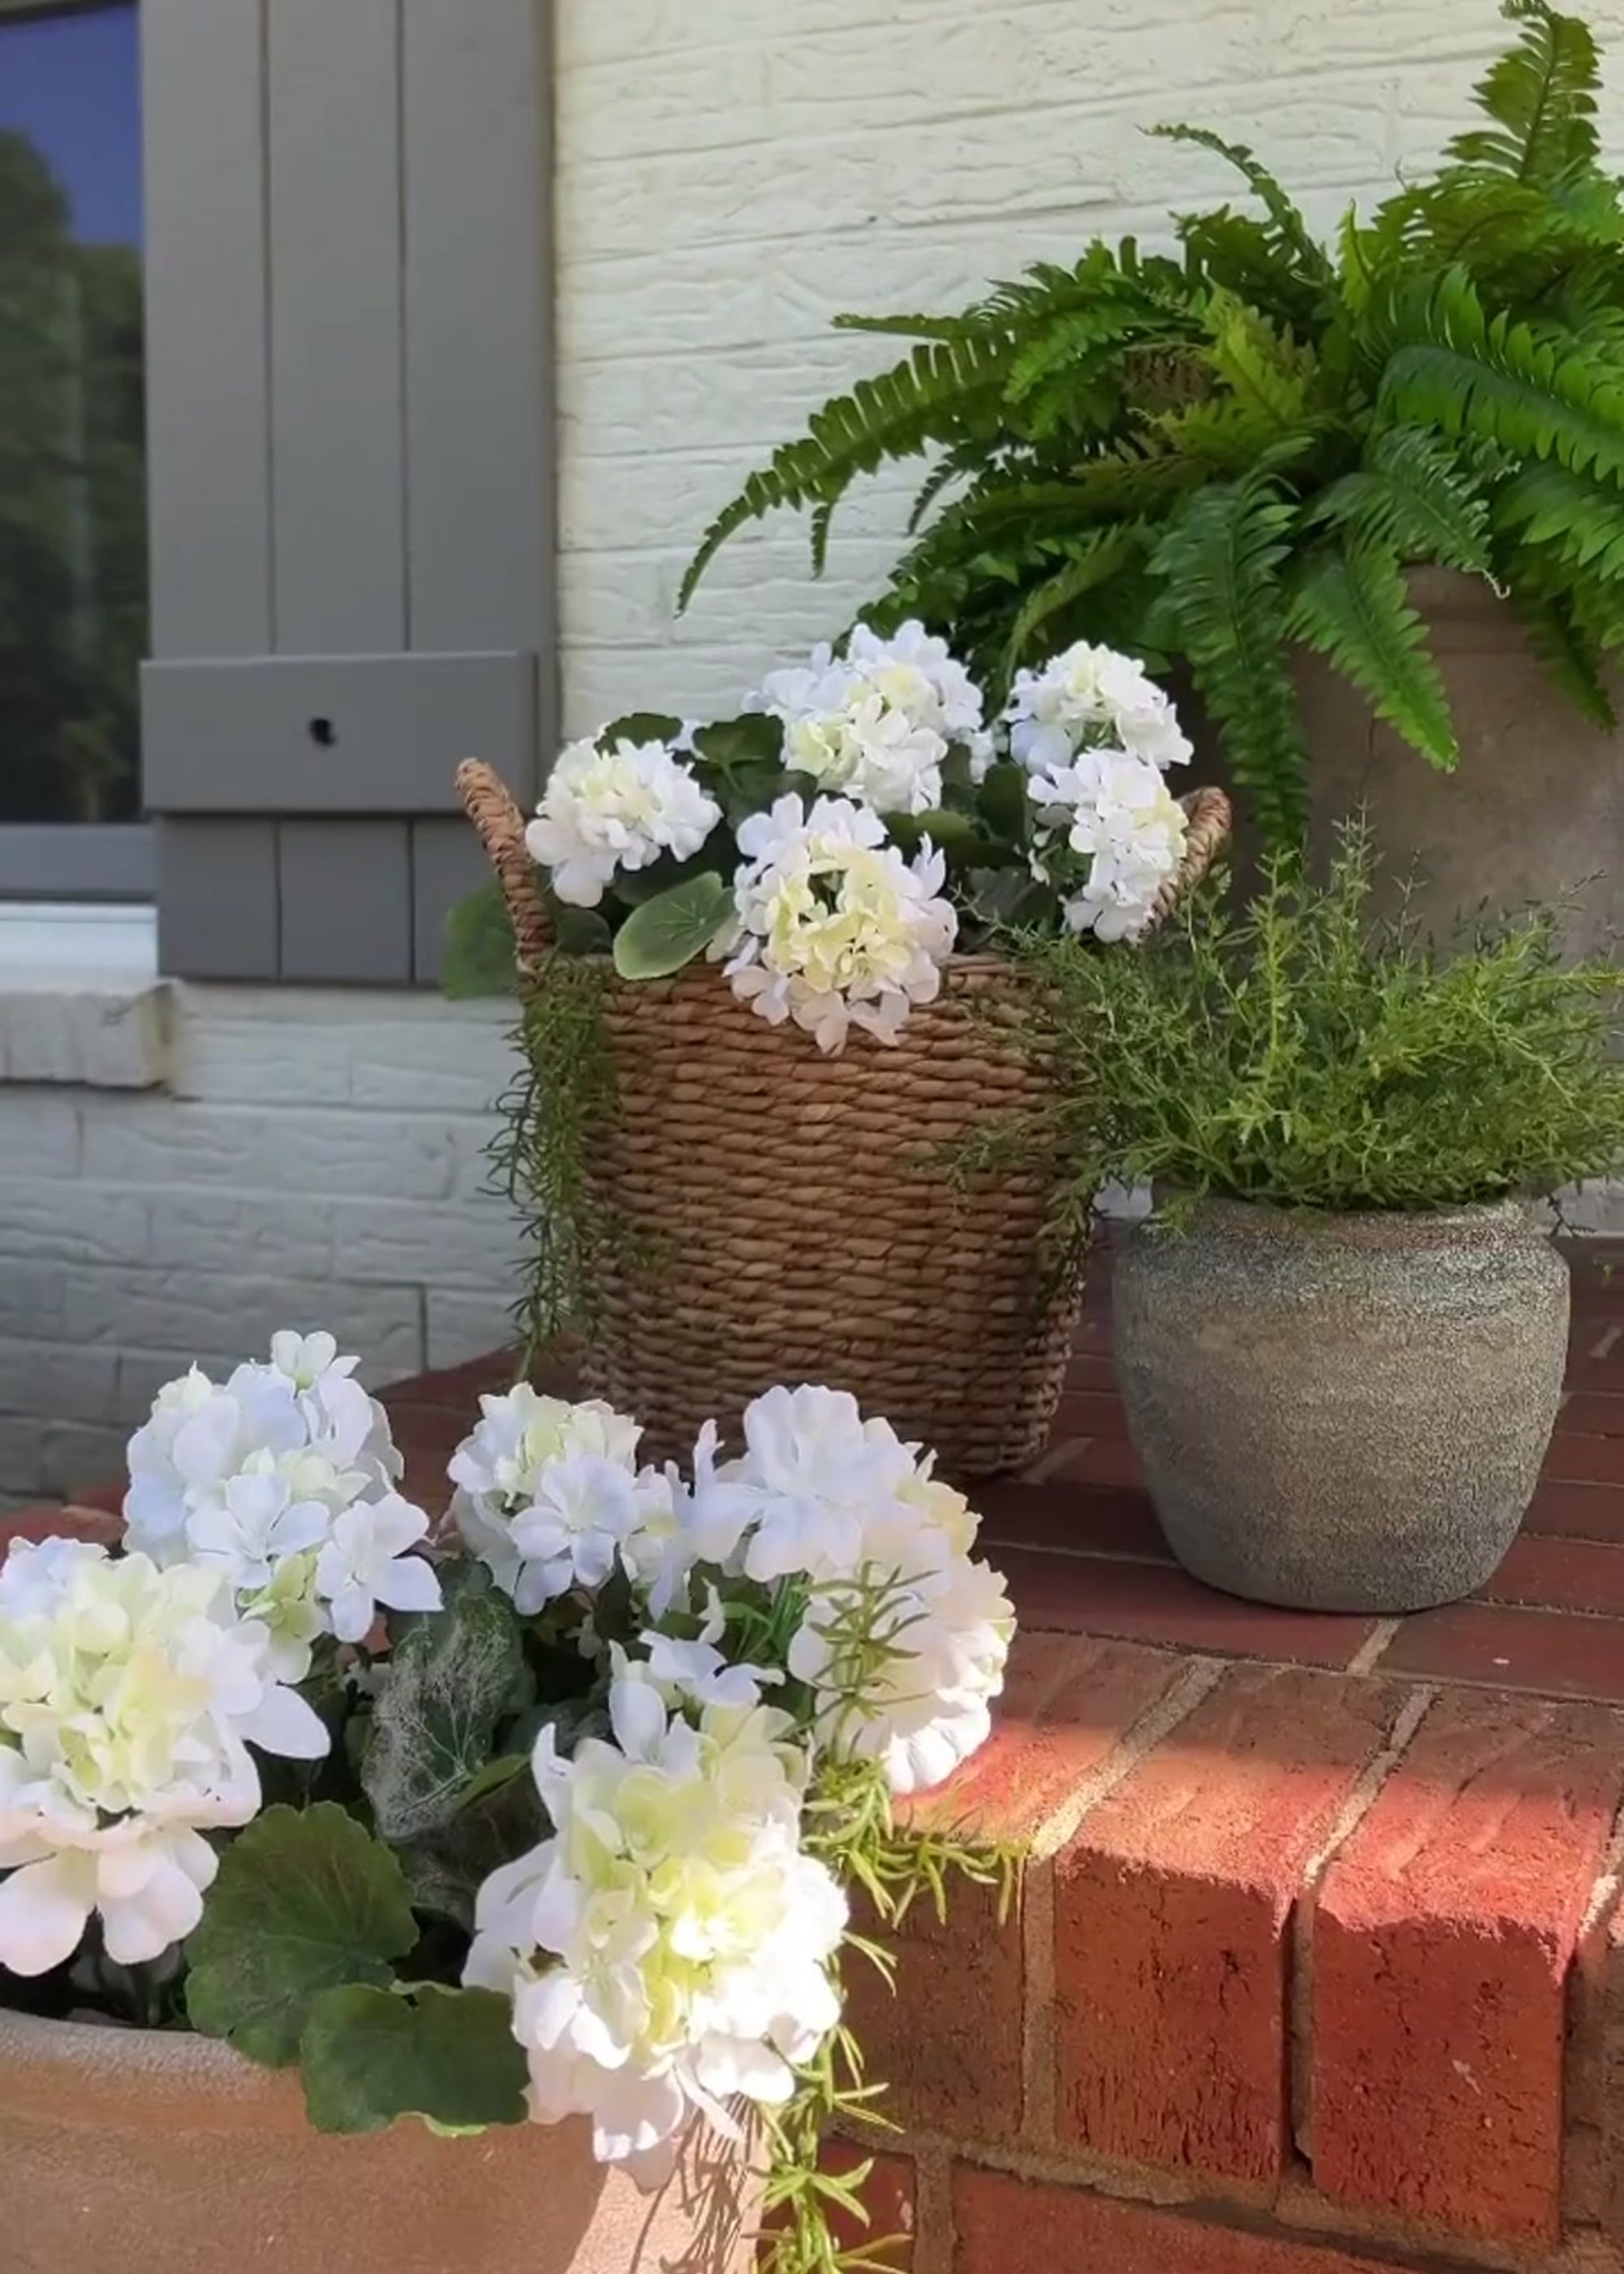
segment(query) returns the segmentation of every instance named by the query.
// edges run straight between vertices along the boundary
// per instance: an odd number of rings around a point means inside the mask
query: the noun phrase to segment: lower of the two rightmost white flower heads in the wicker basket
[[[1060,885],[1069,930],[1137,939],[1187,837],[1160,769],[1128,750],[1085,750],[1069,766],[1035,773],[1026,791],[1039,821],[1033,866]],[[1067,889],[1069,866],[1078,889]]]

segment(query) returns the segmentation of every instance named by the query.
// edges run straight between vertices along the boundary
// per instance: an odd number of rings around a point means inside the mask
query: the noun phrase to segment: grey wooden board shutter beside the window
[[[541,0],[143,0],[159,955],[437,976],[553,721]]]

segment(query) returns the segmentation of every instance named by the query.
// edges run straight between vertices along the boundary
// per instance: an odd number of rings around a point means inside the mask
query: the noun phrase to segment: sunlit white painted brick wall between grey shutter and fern
[[[1588,16],[1624,89],[1624,0]],[[1146,141],[1155,121],[1253,143],[1333,223],[1465,123],[1506,36],[1494,0],[562,0],[569,730],[737,700],[883,578],[894,482],[853,493],[823,589],[782,516],[671,621],[739,478],[889,359],[835,312],[958,307],[1235,196],[1217,159]],[[1608,130],[1624,152],[1617,102]]]

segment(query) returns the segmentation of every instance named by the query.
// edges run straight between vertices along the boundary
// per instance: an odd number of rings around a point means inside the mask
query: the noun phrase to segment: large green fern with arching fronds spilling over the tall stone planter
[[[712,521],[694,596],[778,507],[832,516],[928,459],[908,550],[867,612],[921,616],[994,694],[1042,648],[1101,639],[1183,666],[1271,846],[1301,837],[1292,650],[1349,678],[1433,766],[1458,760],[1408,571],[1506,596],[1556,687],[1613,723],[1624,646],[1624,196],[1601,166],[1590,30],[1503,0],[1517,39],[1483,125],[1319,243],[1244,143],[1256,209],[1190,214],[1178,252],[1092,243],[946,316],[846,316],[903,362],[823,405]]]

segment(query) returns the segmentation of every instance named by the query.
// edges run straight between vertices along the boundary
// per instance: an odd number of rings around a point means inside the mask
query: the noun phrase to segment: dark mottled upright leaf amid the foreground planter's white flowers
[[[496,1724],[523,1685],[514,1605],[482,1565],[444,1571],[444,1610],[398,1635],[373,1708],[362,1785],[384,1840],[450,1824],[489,1767]]]

